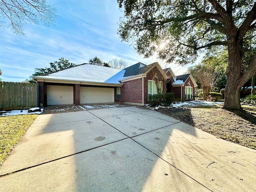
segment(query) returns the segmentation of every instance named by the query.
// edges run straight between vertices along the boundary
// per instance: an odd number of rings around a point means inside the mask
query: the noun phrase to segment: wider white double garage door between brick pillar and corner
[[[80,103],[112,103],[114,88],[80,87]]]

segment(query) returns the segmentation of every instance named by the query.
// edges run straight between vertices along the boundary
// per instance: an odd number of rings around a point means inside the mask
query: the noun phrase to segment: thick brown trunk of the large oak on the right
[[[225,89],[224,109],[242,110],[240,104],[242,70],[242,46],[237,44],[234,37],[228,40],[228,68],[226,70],[227,84]]]

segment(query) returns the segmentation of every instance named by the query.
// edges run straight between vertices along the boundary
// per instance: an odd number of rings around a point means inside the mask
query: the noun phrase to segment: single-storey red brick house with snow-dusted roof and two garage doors
[[[154,76],[168,79],[158,62],[150,65],[139,62],[123,70],[81,64],[33,79],[39,85],[39,101],[44,106],[111,102],[144,105],[148,103],[148,96],[156,94],[156,85],[152,80]],[[179,86],[188,86],[186,82],[191,82],[191,86],[196,85],[192,76],[187,79]],[[167,90],[166,85],[162,85],[163,93]],[[175,87],[172,89],[176,90]],[[194,95],[194,88],[192,91]]]

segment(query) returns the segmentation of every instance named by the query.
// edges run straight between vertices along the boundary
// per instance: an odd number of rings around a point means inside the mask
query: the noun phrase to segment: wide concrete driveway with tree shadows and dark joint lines
[[[12,192],[250,192],[256,150],[138,106],[42,113],[0,175]]]

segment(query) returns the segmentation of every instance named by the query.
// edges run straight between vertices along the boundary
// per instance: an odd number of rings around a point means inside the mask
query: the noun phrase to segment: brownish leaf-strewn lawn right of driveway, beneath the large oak
[[[228,111],[214,106],[194,106],[159,110],[218,138],[256,149],[256,107]]]

